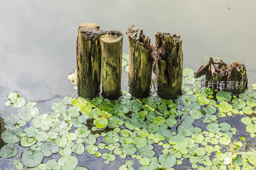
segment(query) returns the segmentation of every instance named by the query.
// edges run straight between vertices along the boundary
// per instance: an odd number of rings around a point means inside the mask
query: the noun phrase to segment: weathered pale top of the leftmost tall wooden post
[[[85,38],[94,38],[101,32],[102,30],[100,29],[100,26],[93,23],[84,23],[81,24],[78,28],[78,34],[80,33]]]

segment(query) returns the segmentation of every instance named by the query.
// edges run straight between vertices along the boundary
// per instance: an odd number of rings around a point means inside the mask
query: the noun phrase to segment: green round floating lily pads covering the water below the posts
[[[129,55],[123,56],[126,66]],[[190,162],[184,169],[255,169],[256,151],[248,147],[245,137],[256,136],[256,84],[232,96],[202,87],[203,78],[195,79],[190,68],[183,75],[183,95],[176,100],[157,94],[138,100],[125,91],[114,101],[66,96],[53,103],[51,114],[41,114],[36,102],[11,92],[4,104],[16,107],[18,115],[4,117],[7,129],[1,137],[6,144],[0,157],[14,157],[12,164],[19,170],[25,166],[28,170],[87,170],[77,166],[77,157],[84,152],[101,157],[106,164],[116,157],[131,157],[119,170],[133,170],[136,159],[140,170],[172,170],[184,161]],[[234,138],[239,129],[226,121],[228,116],[242,116],[240,121],[250,135]],[[99,138],[103,142],[97,142]],[[16,144],[26,150],[20,153]],[[51,155],[60,159],[42,163]]]

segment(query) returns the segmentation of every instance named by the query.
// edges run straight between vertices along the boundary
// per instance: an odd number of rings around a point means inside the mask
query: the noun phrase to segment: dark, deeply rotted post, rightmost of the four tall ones
[[[181,94],[182,85],[182,39],[179,34],[156,33],[157,93],[164,99],[175,99]]]

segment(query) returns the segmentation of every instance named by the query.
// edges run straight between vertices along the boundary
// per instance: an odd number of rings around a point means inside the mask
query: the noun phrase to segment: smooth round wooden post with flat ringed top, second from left
[[[123,33],[104,31],[101,44],[102,95],[110,100],[121,95]]]

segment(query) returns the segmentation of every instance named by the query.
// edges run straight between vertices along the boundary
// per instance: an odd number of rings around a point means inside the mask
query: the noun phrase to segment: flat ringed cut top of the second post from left
[[[104,42],[115,43],[123,38],[123,33],[120,30],[117,31],[103,31],[100,39]]]

